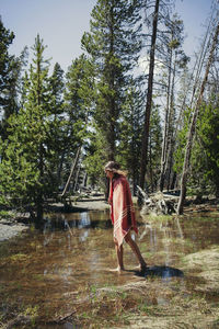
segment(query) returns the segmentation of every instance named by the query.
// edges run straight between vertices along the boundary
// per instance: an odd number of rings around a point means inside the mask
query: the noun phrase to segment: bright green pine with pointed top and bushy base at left
[[[25,78],[23,107],[9,118],[9,138],[1,145],[4,158],[0,166],[1,193],[13,205],[32,205],[42,220],[43,204],[55,188],[53,149],[53,97],[48,61],[39,35],[33,46],[34,59]],[[9,196],[9,198],[8,198]]]

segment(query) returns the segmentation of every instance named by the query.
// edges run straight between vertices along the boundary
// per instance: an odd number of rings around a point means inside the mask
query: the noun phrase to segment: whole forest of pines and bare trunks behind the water
[[[103,190],[108,160],[135,195],[180,191],[177,214],[186,196],[218,197],[218,14],[212,1],[192,63],[172,1],[97,0],[66,72],[45,58],[43,35],[10,54],[16,32],[1,18],[1,211],[41,222],[48,198]]]

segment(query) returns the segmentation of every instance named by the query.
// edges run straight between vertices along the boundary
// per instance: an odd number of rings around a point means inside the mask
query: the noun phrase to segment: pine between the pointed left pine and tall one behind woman
[[[62,158],[66,163],[65,181],[67,183],[64,194],[68,190],[70,181],[74,180],[77,163],[81,158],[82,147],[88,137],[89,117],[92,112],[93,66],[84,54],[72,61],[66,78],[66,139],[64,139],[66,143]]]

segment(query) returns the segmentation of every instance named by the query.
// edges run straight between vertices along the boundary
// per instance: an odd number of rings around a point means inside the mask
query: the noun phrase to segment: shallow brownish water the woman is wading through
[[[192,291],[197,280],[181,270],[181,258],[218,243],[218,215],[193,215],[182,218],[147,219],[137,212],[139,235],[136,241],[149,264],[141,275],[137,261],[124,246],[125,266],[116,268],[113,228],[108,212],[84,212],[47,215],[43,231],[31,229],[20,238],[0,245],[0,295],[2,307],[16,303],[34,308],[42,320],[60,318],[92,298],[97,287],[118,286],[130,282],[160,277],[161,285],[177,280]],[[159,293],[154,304],[169,303]],[[85,304],[84,304],[85,305]],[[42,329],[76,328],[42,325]]]

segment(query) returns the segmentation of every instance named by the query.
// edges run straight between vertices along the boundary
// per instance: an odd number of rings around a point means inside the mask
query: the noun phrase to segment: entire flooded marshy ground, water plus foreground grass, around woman
[[[218,213],[153,218],[136,214],[136,241],[149,266],[145,273],[127,245],[127,271],[111,271],[117,263],[108,211],[47,215],[42,231],[31,228],[2,242],[2,328],[219,328],[214,327],[219,285],[207,287],[199,275],[206,270],[203,260],[188,260],[219,245]],[[199,327],[189,327],[187,311],[207,318],[203,309],[212,326],[201,327],[197,319]],[[173,318],[185,311],[177,327]]]

